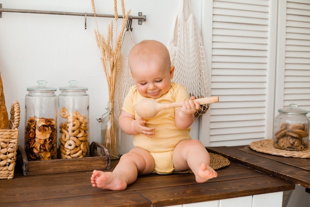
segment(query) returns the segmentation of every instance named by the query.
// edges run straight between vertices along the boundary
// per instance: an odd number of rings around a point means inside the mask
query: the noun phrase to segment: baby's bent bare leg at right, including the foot
[[[180,141],[173,151],[173,164],[176,170],[190,168],[198,183],[215,178],[217,173],[210,165],[210,156],[205,146],[197,139]]]

